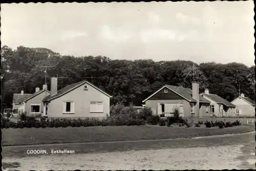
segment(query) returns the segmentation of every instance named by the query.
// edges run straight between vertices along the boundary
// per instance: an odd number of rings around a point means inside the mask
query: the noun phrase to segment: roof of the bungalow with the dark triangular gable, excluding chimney
[[[167,88],[167,89],[175,92],[176,94],[180,95],[181,97],[183,97],[184,99],[186,99],[189,102],[197,102],[197,100],[192,97],[192,90],[191,89],[183,88],[183,87],[178,87],[178,86],[170,86],[170,85],[163,86],[161,89],[159,89],[158,91],[153,93],[151,96],[147,97],[142,102],[145,102],[146,100],[150,99],[152,96],[157,94],[163,88]],[[199,102],[201,102],[201,103],[210,103],[210,101],[208,101],[207,99],[205,99],[202,96],[199,96]]]

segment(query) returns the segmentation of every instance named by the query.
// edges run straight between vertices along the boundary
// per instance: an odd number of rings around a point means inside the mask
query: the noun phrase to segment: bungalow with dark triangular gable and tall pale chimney
[[[182,117],[204,117],[210,101],[200,96],[199,83],[192,83],[192,90],[183,87],[165,85],[147,97],[145,106],[152,108],[153,115],[173,116],[173,109],[178,108]]]

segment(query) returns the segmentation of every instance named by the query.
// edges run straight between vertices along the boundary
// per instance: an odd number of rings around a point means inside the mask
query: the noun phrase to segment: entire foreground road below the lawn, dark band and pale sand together
[[[255,168],[254,133],[202,139],[50,144],[3,147],[9,170],[249,169]],[[26,154],[46,149],[48,154]],[[75,154],[50,154],[70,149]]]

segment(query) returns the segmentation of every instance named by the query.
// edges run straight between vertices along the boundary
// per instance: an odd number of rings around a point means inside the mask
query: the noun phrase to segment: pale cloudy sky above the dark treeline
[[[1,42],[61,55],[254,65],[254,4],[1,4]]]

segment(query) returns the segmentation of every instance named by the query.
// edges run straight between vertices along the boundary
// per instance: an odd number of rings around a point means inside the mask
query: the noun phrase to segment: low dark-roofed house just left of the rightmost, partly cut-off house
[[[209,114],[211,116],[223,117],[236,115],[236,105],[216,94],[210,94],[208,89],[205,89],[204,93],[201,93],[201,96],[210,101]]]

